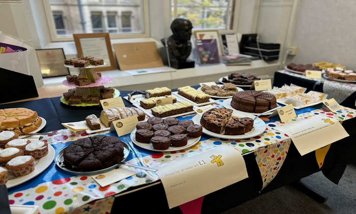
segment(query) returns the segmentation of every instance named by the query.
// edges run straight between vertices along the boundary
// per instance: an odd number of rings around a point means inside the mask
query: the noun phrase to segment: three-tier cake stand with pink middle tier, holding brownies
[[[65,79],[62,83],[65,86],[77,88],[75,91],[75,95],[77,96],[83,96],[86,97],[88,95],[93,95],[93,93],[99,93],[100,92],[100,87],[110,84],[113,82],[113,78],[109,76],[98,76],[97,72],[94,71],[94,68],[98,67],[103,67],[106,66],[106,63],[104,65],[90,65],[86,66],[85,68],[78,68],[74,67],[73,65],[64,65],[67,68],[76,68],[79,69],[79,74],[78,78],[88,78],[91,80],[92,84],[85,85],[85,86],[78,86],[74,82],[68,82],[67,79]],[[115,92],[113,93],[114,97],[120,96],[120,91],[114,89]],[[99,93],[100,96],[100,93]],[[100,103],[84,103],[82,102],[81,104],[73,104],[70,105],[69,101],[64,98],[64,96],[61,97],[61,102],[65,105],[68,106],[76,106],[76,107],[85,107],[85,106],[98,106]]]

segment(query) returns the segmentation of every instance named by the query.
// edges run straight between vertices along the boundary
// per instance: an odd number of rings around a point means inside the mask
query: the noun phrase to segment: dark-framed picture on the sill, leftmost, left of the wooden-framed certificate
[[[63,48],[36,49],[36,54],[43,78],[69,75],[69,69],[64,67]]]

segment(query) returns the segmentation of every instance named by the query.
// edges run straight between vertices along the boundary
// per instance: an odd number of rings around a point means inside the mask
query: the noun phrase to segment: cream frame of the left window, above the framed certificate
[[[53,20],[53,14],[51,11],[51,6],[49,0],[42,0],[43,7],[46,14],[46,21],[48,25],[48,30],[51,36],[52,42],[65,42],[74,41],[73,35],[68,36],[58,36]],[[149,1],[142,0],[142,23],[143,29],[142,33],[109,33],[110,39],[128,39],[128,38],[144,38],[150,37],[150,19],[149,19]]]

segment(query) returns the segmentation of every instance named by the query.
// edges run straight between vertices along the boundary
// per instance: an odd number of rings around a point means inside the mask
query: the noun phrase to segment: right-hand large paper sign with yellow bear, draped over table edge
[[[339,121],[322,115],[288,123],[274,129],[286,133],[301,155],[349,136]]]

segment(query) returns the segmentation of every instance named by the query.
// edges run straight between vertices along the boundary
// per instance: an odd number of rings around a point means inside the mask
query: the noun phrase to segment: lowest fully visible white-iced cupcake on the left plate
[[[27,175],[35,170],[35,158],[29,155],[21,155],[12,158],[6,168],[15,176]]]

